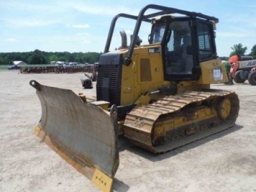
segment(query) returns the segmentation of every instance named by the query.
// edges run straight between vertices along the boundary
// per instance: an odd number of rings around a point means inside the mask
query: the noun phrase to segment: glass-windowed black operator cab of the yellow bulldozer
[[[161,44],[165,80],[197,80],[199,62],[217,58],[213,23],[195,17],[152,19],[150,44]]]

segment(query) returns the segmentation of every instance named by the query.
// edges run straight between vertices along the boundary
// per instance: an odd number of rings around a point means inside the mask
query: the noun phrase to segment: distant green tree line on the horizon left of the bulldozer
[[[46,52],[36,49],[31,52],[0,53],[0,65],[12,65],[15,60],[21,60],[28,64],[48,64],[51,61],[95,63],[99,61],[101,54],[97,52]]]

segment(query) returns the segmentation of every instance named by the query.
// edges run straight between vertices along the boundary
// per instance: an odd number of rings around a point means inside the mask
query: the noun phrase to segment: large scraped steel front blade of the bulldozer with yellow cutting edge
[[[71,90],[35,80],[30,85],[42,109],[33,132],[101,190],[110,191],[119,165],[116,106],[109,113],[83,103]]]

